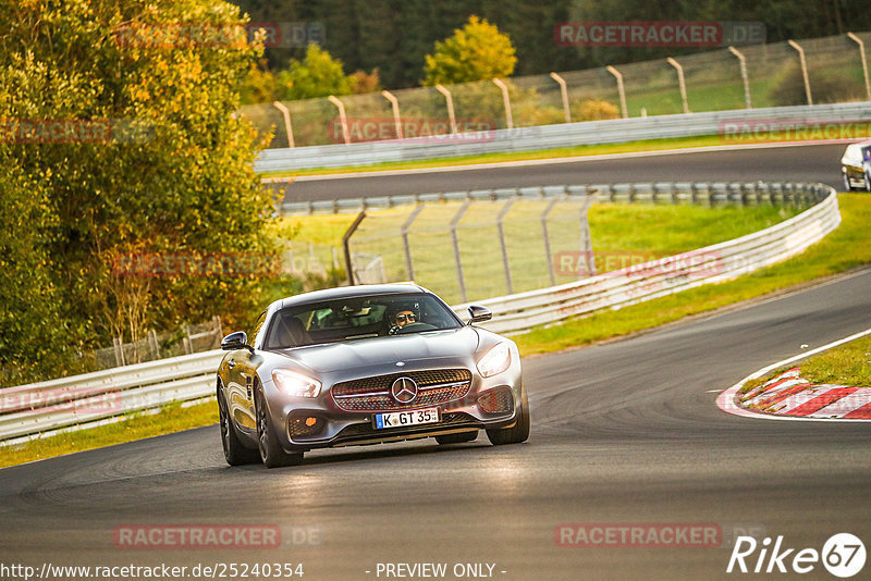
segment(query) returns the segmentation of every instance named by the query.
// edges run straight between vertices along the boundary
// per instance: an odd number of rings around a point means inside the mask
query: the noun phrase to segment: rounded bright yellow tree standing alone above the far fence
[[[514,72],[517,58],[507,35],[473,15],[454,36],[436,42],[426,61],[424,85],[432,86],[504,78]]]

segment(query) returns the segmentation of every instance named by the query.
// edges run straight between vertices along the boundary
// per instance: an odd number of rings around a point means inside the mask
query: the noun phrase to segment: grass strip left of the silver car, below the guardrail
[[[0,468],[216,423],[218,423],[218,404],[214,401],[186,408],[173,404],[163,407],[158,413],[136,415],[118,423],[61,433],[0,448],[2,450]],[[216,444],[220,445],[217,441]]]

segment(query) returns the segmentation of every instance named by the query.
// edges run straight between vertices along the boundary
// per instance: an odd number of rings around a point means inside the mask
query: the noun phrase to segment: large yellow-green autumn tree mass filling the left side
[[[19,293],[4,310],[33,300],[33,312],[3,316],[4,343],[54,337],[45,345],[86,349],[122,330],[130,341],[214,314],[247,322],[257,276],[179,272],[136,283],[113,269],[125,252],[269,250],[261,232],[272,200],[253,169],[260,144],[234,114],[261,51],[242,24],[220,0],[0,11],[0,210],[14,233],[2,247],[14,263],[0,298]],[[71,131],[47,132],[51,123]],[[10,231],[11,217],[22,225]],[[30,269],[32,280],[21,275]],[[49,360],[45,349],[0,349],[0,368],[36,376],[61,371]]]

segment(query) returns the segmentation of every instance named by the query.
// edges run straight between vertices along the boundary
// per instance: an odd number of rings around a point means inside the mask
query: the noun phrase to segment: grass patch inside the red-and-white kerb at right
[[[871,386],[871,335],[809,357],[801,376],[814,384]]]

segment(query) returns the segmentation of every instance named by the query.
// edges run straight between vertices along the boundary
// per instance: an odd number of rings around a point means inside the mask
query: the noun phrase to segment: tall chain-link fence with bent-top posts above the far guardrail
[[[854,36],[871,44],[871,33]],[[454,109],[453,123],[445,94],[436,87],[393,91],[397,111],[380,92],[341,97],[346,124],[339,108],[327,98],[285,101],[290,124],[273,104],[247,106],[241,113],[260,132],[273,132],[269,147],[315,146],[404,138],[432,138],[451,133],[483,132],[609,119],[684,112],[678,67],[686,85],[689,111],[723,111],[749,106],[778,107],[871,100],[860,45],[848,36],[801,40],[807,61],[808,86],[800,67],[799,51],[787,42],[741,47],[666,59],[561,73],[566,84],[563,100],[560,84],[550,75],[505,79],[508,107],[502,89],[492,82],[445,87]],[[746,82],[741,72],[745,62]],[[618,91],[617,76],[624,94]],[[749,100],[749,103],[748,103]],[[625,101],[625,111],[623,102]],[[566,109],[568,115],[566,115]],[[396,123],[395,112],[400,122]],[[346,128],[346,131],[345,131]]]

